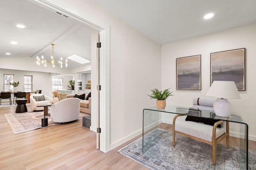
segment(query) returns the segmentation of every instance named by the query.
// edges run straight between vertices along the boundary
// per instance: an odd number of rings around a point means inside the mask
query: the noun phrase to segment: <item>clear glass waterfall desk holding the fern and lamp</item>
[[[143,109],[143,135],[142,135],[142,152],[143,154],[153,147],[159,141],[159,125],[162,123],[162,114],[170,117],[169,123],[176,114],[190,115],[194,117],[203,117],[207,119],[224,120],[234,123],[239,123],[240,131],[240,155],[242,162],[246,162],[248,169],[248,125],[242,122],[238,113],[231,113],[229,117],[216,116],[213,111],[196,109],[192,107],[182,106],[166,106],[165,109],[157,109],[156,106]],[[171,123],[172,124],[172,123]],[[237,126],[236,126],[237,127]],[[154,133],[151,133],[154,131]],[[150,134],[149,134],[150,133]],[[152,134],[152,135],[151,135]],[[244,135],[243,135],[244,134]],[[171,141],[172,142],[172,141]],[[246,157],[246,160],[245,160]]]

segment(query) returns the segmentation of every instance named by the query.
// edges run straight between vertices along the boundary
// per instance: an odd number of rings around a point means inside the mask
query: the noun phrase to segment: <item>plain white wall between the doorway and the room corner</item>
[[[85,20],[110,26],[110,149],[142,133],[147,94],[161,88],[161,46],[91,0],[48,0]]]

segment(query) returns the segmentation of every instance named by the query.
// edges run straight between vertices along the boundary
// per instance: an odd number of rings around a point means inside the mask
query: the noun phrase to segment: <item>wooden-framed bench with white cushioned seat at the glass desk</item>
[[[173,147],[175,147],[175,133],[212,145],[212,164],[215,166],[216,145],[226,138],[226,147],[229,149],[229,122],[221,120],[212,126],[194,121],[185,121],[185,119],[178,120],[177,118],[181,116],[184,115],[178,114],[173,119]],[[220,124],[222,127],[217,127]]]

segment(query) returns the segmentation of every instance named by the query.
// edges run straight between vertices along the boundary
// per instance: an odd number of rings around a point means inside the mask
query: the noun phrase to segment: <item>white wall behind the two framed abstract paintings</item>
[[[232,111],[240,113],[243,121],[249,125],[249,139],[256,141],[256,23],[163,45],[162,88],[170,87],[174,91],[174,96],[166,100],[170,105],[190,107],[193,98],[209,98],[206,92],[210,88],[210,53],[240,48],[246,48],[246,91],[239,91],[240,100],[229,101]],[[201,55],[202,90],[176,90],[176,58],[193,55]],[[233,135],[240,133],[235,126],[230,127],[230,132]]]

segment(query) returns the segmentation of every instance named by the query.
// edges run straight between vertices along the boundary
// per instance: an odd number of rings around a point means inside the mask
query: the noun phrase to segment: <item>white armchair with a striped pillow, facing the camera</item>
[[[33,97],[33,96],[36,96],[36,98],[40,98],[40,96],[43,96],[43,95],[44,94],[32,94],[32,95],[30,95],[29,100],[30,100],[30,109],[31,109],[31,111],[43,110],[44,107],[37,107],[37,106],[44,105],[44,104],[50,104],[51,98],[49,96],[44,95],[45,100],[41,100],[41,101],[36,101],[36,99],[34,99],[34,97]]]

